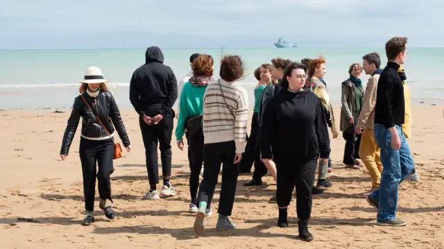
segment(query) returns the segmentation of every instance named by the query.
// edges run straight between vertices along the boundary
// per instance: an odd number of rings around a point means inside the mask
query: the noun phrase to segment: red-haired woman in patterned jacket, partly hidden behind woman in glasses
[[[321,80],[319,80],[319,78],[323,78],[325,73],[326,71],[324,58],[311,60],[308,69],[309,79],[306,81],[306,87],[311,92],[314,92],[314,94],[316,94],[319,98],[321,98],[322,107],[325,112],[325,121],[332,130],[333,138],[336,138],[338,137],[338,132],[336,131],[336,124],[334,121],[332,105],[330,103],[330,96],[327,93],[327,87],[325,87],[325,84]],[[327,168],[328,160],[327,164],[324,164],[321,160],[318,166],[318,184],[316,184],[316,186],[313,186],[313,194],[322,194],[324,189],[321,188],[332,187],[332,183],[327,180]]]

